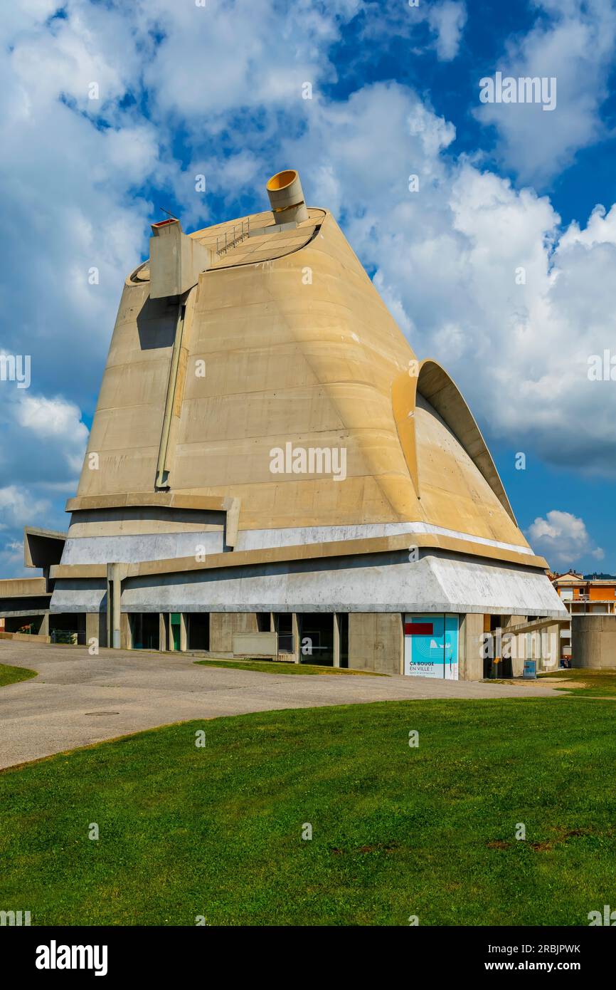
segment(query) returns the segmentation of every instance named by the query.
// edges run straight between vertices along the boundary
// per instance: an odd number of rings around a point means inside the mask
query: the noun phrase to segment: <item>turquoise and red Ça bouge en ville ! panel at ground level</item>
[[[404,616],[404,673],[458,680],[458,616]]]

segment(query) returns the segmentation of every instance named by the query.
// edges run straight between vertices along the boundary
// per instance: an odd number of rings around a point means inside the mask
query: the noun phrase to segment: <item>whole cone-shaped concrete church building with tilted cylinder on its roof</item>
[[[68,532],[27,528],[44,578],[30,612],[0,589],[0,613],[84,643],[483,677],[486,630],[565,614],[547,563],[331,214],[293,170],[267,192],[188,236],[152,225]]]

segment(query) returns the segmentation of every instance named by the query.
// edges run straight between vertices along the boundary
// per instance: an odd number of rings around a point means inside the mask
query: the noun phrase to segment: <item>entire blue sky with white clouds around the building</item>
[[[531,544],[616,572],[616,381],[587,373],[616,355],[612,0],[22,0],[0,37],[0,353],[32,361],[0,381],[4,575],[25,523],[66,526],[160,207],[263,209],[290,166],[460,384]],[[482,103],[496,71],[555,78],[556,107]]]

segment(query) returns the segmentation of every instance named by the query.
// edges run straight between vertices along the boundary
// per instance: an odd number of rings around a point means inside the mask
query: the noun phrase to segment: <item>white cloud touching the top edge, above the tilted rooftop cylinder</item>
[[[335,79],[329,48],[359,7],[352,0],[296,0],[284,11],[273,0],[205,8],[141,3],[141,31],[156,26],[163,32],[144,68],[156,93],[153,112],[179,114],[191,131],[203,134],[216,133],[221,119],[242,109],[271,114],[293,104],[299,110],[304,82]]]

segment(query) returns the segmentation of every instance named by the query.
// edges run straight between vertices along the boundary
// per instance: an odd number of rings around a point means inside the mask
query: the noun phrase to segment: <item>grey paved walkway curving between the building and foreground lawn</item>
[[[553,688],[528,683],[276,675],[198,666],[179,653],[90,656],[85,646],[11,641],[0,641],[0,663],[39,672],[0,687],[0,767],[189,719],[404,699],[555,697]]]

